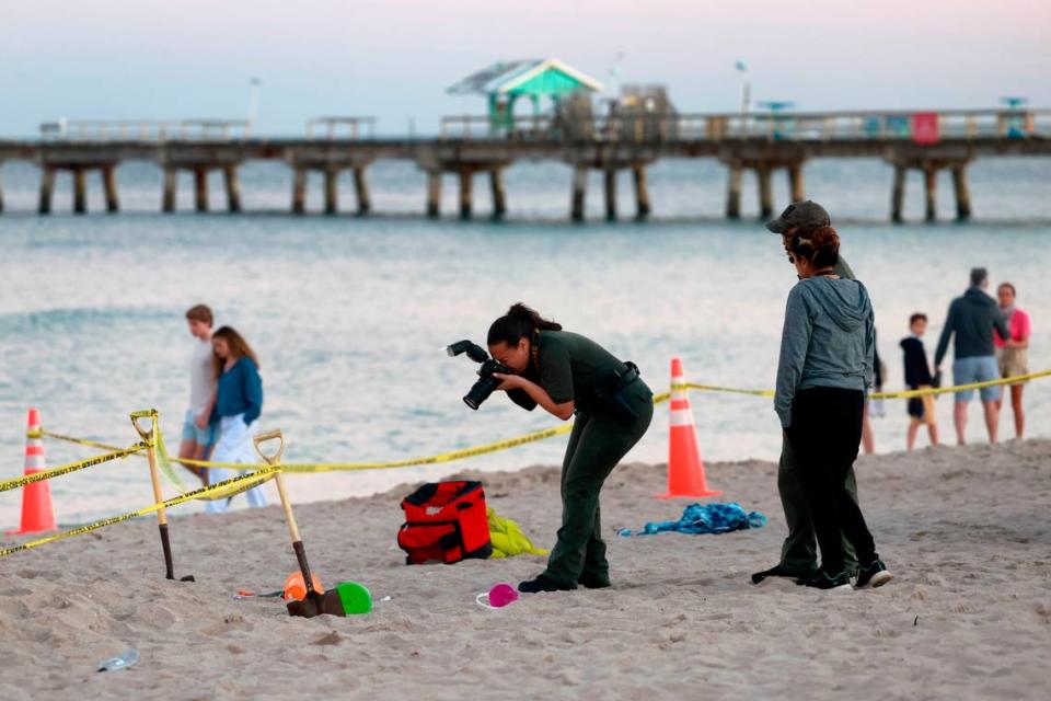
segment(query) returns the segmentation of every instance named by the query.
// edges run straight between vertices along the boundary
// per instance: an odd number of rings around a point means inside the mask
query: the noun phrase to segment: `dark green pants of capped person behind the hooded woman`
[[[781,549],[781,566],[794,572],[812,572],[818,568],[818,543],[810,518],[810,497],[796,453],[788,437],[782,432],[781,462],[777,466],[777,491],[785,507],[788,537]],[[857,504],[857,480],[854,468],[846,472],[846,492]],[[842,536],[842,533],[841,533]],[[857,555],[846,536],[843,538],[843,563],[850,572],[857,570]]]

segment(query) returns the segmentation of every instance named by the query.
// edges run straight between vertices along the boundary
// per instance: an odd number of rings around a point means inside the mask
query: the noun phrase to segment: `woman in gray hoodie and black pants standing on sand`
[[[851,587],[841,532],[857,551],[857,588],[891,579],[845,486],[873,383],[875,331],[865,286],[834,272],[839,255],[840,237],[832,227],[801,231],[790,242],[799,281],[785,309],[774,398],[807,483],[821,549],[821,568],[799,583],[820,589]]]

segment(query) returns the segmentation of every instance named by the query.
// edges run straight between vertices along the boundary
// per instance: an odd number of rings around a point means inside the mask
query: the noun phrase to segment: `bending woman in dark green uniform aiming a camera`
[[[610,586],[599,517],[602,483],[649,427],[652,392],[638,368],[593,341],[563,331],[526,304],[512,306],[489,326],[489,353],[511,370],[498,389],[523,409],[536,405],[577,421],[562,466],[562,528],[547,568],[519,591]]]

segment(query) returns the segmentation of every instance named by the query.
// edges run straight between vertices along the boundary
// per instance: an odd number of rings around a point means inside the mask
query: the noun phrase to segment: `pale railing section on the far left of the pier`
[[[249,119],[57,119],[41,124],[49,141],[226,141],[251,136]]]

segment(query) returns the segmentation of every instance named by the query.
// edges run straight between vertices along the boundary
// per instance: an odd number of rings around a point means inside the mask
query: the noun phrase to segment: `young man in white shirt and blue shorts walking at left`
[[[211,407],[216,403],[216,365],[211,348],[211,309],[197,304],[186,310],[189,333],[196,338],[189,359],[189,410],[183,422],[183,443],[178,447],[182,460],[204,460],[208,457],[215,441],[215,433],[209,423]],[[186,469],[208,483],[207,471],[193,466]]]

